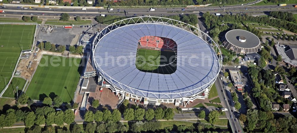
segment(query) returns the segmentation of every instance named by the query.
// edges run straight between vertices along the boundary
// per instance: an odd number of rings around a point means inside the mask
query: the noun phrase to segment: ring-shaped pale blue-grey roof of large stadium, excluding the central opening
[[[217,51],[210,45],[211,38],[206,42],[194,34],[197,31],[199,29],[191,25],[162,17],[121,20],[97,33],[93,42],[93,63],[110,89],[125,93],[126,98],[157,102],[185,97],[188,100],[206,98],[208,88],[221,69],[222,57],[217,56]],[[143,36],[175,41],[175,72],[150,73],[136,68],[139,40]]]

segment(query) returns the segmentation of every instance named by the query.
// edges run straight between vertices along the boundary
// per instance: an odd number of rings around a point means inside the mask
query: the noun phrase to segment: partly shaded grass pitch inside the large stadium
[[[138,49],[135,65],[143,72],[170,74],[176,70],[175,59],[176,54],[172,51]]]

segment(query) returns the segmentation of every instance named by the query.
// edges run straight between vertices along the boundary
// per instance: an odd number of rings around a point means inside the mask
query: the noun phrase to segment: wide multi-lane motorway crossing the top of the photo
[[[16,5],[17,6],[17,5]],[[61,8],[34,8],[34,9],[25,9],[21,7],[8,7],[1,8],[4,10],[4,14],[10,15],[30,15],[30,16],[59,16],[61,13],[69,13],[71,17],[76,16],[97,16],[97,15],[118,15],[118,16],[142,16],[142,15],[151,15],[151,16],[160,16],[160,15],[180,15],[180,14],[196,14],[201,16],[203,12],[210,12],[211,14],[220,13],[220,14],[251,14],[251,15],[264,15],[269,14],[269,11],[287,11],[296,13],[296,9],[293,5],[287,5],[279,7],[277,5],[268,5],[268,6],[247,6],[247,5],[236,5],[236,6],[225,6],[225,7],[192,7],[187,8],[182,11],[182,7],[176,8],[157,8],[155,11],[149,11],[148,9],[114,9],[111,12],[108,12],[107,9],[61,9]],[[225,10],[225,11],[224,11]]]

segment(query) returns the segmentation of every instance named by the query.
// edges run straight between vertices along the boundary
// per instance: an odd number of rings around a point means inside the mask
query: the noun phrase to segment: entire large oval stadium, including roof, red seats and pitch
[[[163,17],[132,17],[97,33],[92,64],[104,79],[99,85],[119,99],[185,106],[208,97],[222,67],[214,47],[217,44],[192,25]]]

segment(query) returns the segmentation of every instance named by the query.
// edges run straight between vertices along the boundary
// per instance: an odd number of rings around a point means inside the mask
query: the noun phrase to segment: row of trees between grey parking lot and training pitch
[[[64,45],[58,45],[58,44],[51,44],[49,41],[40,42],[38,44],[38,47],[43,50],[53,51],[53,52],[63,52],[66,50],[66,46]],[[67,45],[69,52],[75,53],[75,54],[81,54],[83,53],[83,46],[73,46],[73,45]]]

